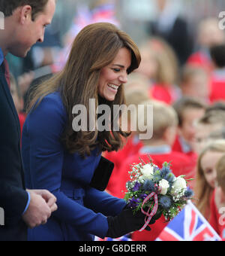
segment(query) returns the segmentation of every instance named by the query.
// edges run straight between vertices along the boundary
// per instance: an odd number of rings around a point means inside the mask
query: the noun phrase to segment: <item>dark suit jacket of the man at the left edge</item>
[[[20,151],[20,122],[5,80],[5,66],[0,66],[0,207],[5,225],[0,226],[0,240],[26,239],[22,214],[28,194],[25,190]]]

